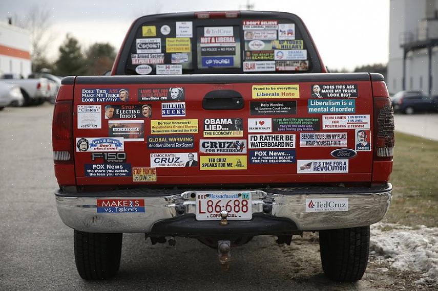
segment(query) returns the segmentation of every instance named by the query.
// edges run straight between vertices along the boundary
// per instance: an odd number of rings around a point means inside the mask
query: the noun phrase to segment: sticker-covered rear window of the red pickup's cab
[[[298,17],[164,15],[134,24],[120,60],[124,75],[315,73],[316,53]]]

